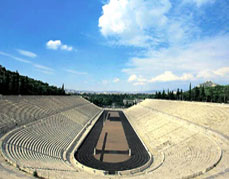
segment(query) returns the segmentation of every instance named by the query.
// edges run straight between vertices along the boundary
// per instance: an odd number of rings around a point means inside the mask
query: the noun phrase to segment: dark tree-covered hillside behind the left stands
[[[64,86],[57,88],[39,80],[6,70],[0,65],[0,94],[3,95],[64,95]]]

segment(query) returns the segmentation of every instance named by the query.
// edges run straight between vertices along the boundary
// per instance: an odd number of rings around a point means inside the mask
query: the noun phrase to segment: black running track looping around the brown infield
[[[116,171],[123,171],[123,170],[130,170],[133,168],[140,167],[144,165],[149,159],[150,156],[148,155],[145,147],[143,146],[141,140],[138,138],[137,134],[135,133],[134,129],[126,119],[125,115],[122,111],[118,111],[119,117],[112,117],[108,114],[112,111],[104,111],[103,114],[100,116],[92,130],[89,132],[79,149],[75,152],[75,158],[82,164],[95,168],[98,170],[104,170],[109,172],[110,174],[114,174]],[[103,160],[98,160],[94,156],[94,149],[97,147],[97,143],[103,131],[103,123],[106,120],[109,121],[119,121],[122,123],[125,138],[127,140],[128,146],[131,149],[131,156],[127,158],[127,160],[122,162],[105,162]],[[109,135],[109,133],[108,133]],[[106,135],[105,135],[106,138]],[[104,139],[105,139],[104,138]],[[112,140],[112,139],[111,139]],[[106,141],[105,141],[106,142]],[[105,145],[105,144],[104,144]],[[120,155],[120,152],[117,152],[117,148],[113,150],[113,155]],[[115,152],[116,151],[116,152]],[[128,150],[127,150],[128,151]],[[100,152],[108,153],[111,155],[111,150],[107,150],[103,148]],[[123,155],[128,155],[123,150]],[[116,154],[115,154],[116,153]]]

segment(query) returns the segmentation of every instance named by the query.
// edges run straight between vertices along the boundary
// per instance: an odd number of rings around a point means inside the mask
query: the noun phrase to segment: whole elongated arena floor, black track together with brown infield
[[[122,111],[104,111],[74,154],[104,174],[140,168],[150,155]]]

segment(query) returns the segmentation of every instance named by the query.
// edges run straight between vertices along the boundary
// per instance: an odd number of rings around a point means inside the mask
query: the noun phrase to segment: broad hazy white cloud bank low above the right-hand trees
[[[228,46],[229,35],[219,35],[186,46],[169,47],[158,51],[148,50],[145,57],[131,58],[122,71],[131,77],[129,82],[138,76],[144,79],[154,77],[154,80],[163,79],[165,76],[170,79],[182,77],[184,80],[213,78],[223,80],[222,76],[227,74],[229,66]],[[166,71],[182,75],[164,74]]]

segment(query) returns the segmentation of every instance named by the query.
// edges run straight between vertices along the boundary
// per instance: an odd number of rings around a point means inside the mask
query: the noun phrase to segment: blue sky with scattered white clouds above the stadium
[[[228,0],[1,0],[0,65],[66,89],[229,84]]]

